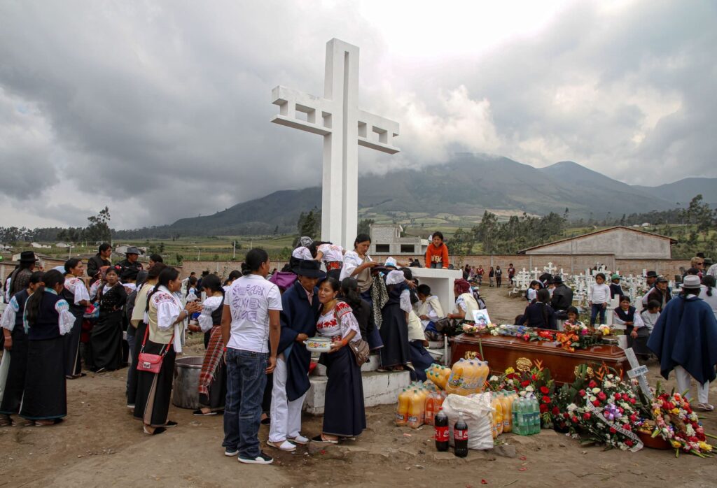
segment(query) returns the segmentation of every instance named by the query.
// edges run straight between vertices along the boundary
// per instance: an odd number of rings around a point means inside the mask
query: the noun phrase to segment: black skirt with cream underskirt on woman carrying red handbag
[[[159,354],[165,344],[158,344],[147,340],[144,351],[150,354]],[[141,349],[141,343],[138,349]],[[161,427],[167,423],[169,402],[172,396],[172,379],[174,377],[174,360],[176,353],[174,346],[164,356],[159,373],[137,371],[137,397],[135,401],[134,416],[145,424]],[[136,368],[136,365],[132,366]]]

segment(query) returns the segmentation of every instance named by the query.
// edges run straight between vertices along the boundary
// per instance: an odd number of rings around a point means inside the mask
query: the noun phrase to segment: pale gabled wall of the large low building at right
[[[528,250],[526,254],[614,254],[617,259],[670,259],[670,239],[630,229],[613,229],[581,235],[559,243]]]

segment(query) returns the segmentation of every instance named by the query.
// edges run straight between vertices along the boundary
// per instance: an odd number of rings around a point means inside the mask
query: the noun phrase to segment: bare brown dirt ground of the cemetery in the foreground
[[[508,298],[505,288],[482,291],[493,321],[509,322],[522,311],[524,302]],[[186,352],[202,350],[192,346]],[[654,386],[659,366],[654,360],[648,366]],[[0,486],[478,487],[485,481],[493,487],[709,487],[717,477],[715,459],[686,454],[675,459],[673,451],[647,448],[634,454],[604,451],[546,429],[528,437],[504,434],[493,451],[470,451],[459,459],[436,452],[431,427],[394,426],[393,405],[367,409],[368,429],[356,441],[299,446],[294,453],[267,448],[275,458],[272,466],[240,464],[224,457],[222,416],[196,417],[171,406],[170,419],[179,426],[159,436],[143,434],[125,407],[125,374],[122,369],[68,381],[62,424],[0,429]],[[706,431],[717,433],[717,413],[701,415]],[[320,417],[304,416],[303,434],[318,434],[320,426]],[[262,443],[267,434],[262,426]]]

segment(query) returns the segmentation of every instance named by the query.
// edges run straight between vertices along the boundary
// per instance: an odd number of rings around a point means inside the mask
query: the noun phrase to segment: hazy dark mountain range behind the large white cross
[[[570,218],[615,218],[685,206],[698,193],[714,205],[716,183],[717,178],[685,178],[658,187],[627,185],[571,161],[536,168],[507,157],[458,154],[441,165],[359,177],[359,214],[377,221],[430,221],[440,214],[463,223],[480,220],[485,210],[545,215],[567,208]],[[290,233],[300,213],[320,206],[320,187],[281,190],[154,229],[183,235]]]

